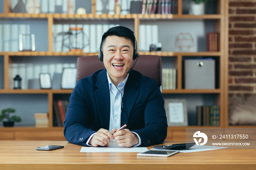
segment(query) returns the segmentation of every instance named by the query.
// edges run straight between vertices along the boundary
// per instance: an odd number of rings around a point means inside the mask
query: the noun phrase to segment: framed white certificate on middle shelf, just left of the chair
[[[74,89],[76,86],[76,68],[64,68],[61,76],[62,89]]]

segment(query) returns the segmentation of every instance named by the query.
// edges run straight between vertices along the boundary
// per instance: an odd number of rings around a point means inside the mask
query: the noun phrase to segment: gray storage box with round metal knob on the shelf
[[[186,59],[185,89],[215,89],[215,60]]]

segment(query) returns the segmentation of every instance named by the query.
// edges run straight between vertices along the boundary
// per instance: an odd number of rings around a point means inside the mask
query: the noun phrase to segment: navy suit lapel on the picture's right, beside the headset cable
[[[134,71],[129,74],[128,80],[125,84],[124,88],[124,96],[123,96],[123,109],[127,113],[127,117],[131,114],[132,108],[135,104],[139,96],[139,91],[136,89],[139,86],[138,76]],[[125,112],[121,112],[121,125],[127,124],[128,120],[125,115]]]

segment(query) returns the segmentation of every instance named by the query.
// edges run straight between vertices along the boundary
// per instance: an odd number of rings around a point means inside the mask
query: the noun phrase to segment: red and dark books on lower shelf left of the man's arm
[[[55,111],[55,117],[57,126],[63,126],[65,116],[67,113],[69,101],[67,100],[57,100],[53,101],[54,111]]]

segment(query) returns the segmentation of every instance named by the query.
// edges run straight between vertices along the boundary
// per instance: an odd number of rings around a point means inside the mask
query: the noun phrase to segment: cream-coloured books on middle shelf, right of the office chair
[[[162,69],[162,89],[176,89],[176,69]]]

